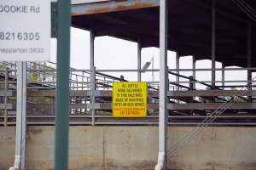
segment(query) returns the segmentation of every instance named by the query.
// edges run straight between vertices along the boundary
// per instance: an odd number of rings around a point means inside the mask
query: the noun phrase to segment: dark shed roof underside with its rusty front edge
[[[141,3],[148,2],[153,2],[150,7],[141,6]],[[255,0],[246,2],[256,8]],[[131,4],[140,5],[131,8]],[[211,4],[212,0],[169,1],[169,49],[179,51],[181,55],[194,55],[195,59],[211,59]],[[94,10],[86,13],[90,8]],[[159,0],[79,5],[73,8],[73,26],[93,28],[96,36],[120,37],[135,42],[140,40],[143,48],[159,47],[159,10]],[[255,28],[253,23],[253,47],[256,45]],[[216,36],[218,61],[225,65],[247,66],[247,14],[232,0],[217,0]],[[253,48],[253,66],[256,66],[255,55],[256,48]]]

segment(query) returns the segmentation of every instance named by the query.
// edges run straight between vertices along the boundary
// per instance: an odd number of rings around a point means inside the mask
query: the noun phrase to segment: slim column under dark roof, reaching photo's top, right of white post
[[[216,0],[212,0],[212,89],[215,88],[216,69]]]

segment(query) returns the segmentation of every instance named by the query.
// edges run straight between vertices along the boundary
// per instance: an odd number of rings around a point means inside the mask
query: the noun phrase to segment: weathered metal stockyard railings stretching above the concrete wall
[[[0,125],[15,124],[15,89],[16,66],[15,63],[2,63],[5,68],[0,69]],[[54,63],[28,63],[28,124],[54,124],[55,113],[55,64]],[[222,69],[216,69],[216,71]],[[247,69],[235,68],[225,71],[242,71]],[[255,70],[251,68],[251,70]],[[143,70],[141,70],[143,71]],[[147,70],[159,71],[159,70]],[[212,89],[212,81],[196,80],[174,73],[173,76],[182,77],[187,81],[169,81],[169,125],[195,126],[208,116],[209,111],[214,111],[230,96],[236,94],[236,89],[228,87]],[[189,69],[179,70],[192,71]],[[212,69],[197,69],[196,71],[212,71]],[[94,72],[92,74],[92,72]],[[77,125],[157,125],[158,124],[158,89],[159,82],[148,82],[148,116],[145,118],[113,118],[112,117],[112,88],[113,82],[128,81],[124,77],[109,76],[109,72],[139,72],[139,70],[70,70],[70,123]],[[95,78],[91,78],[95,77]],[[95,82],[93,80],[95,79]],[[214,81],[216,83],[222,81]],[[232,83],[234,87],[242,86],[248,81],[224,81]],[[91,90],[95,83],[96,91]],[[204,85],[207,90],[198,90],[194,84]],[[178,91],[177,91],[177,88]],[[244,85],[243,85],[244,86]],[[218,86],[217,86],[218,87]],[[186,93],[188,92],[188,93]],[[192,93],[193,92],[193,93]],[[2,93],[2,94],[1,94]],[[225,111],[211,126],[254,126],[256,117],[253,116],[254,105],[247,101],[247,96],[255,93],[248,91],[245,96],[240,96],[236,107]],[[92,103],[91,98],[95,97]],[[254,101],[254,100],[253,100]],[[92,114],[91,105],[94,105],[95,114]],[[94,122],[94,123],[92,123]]]

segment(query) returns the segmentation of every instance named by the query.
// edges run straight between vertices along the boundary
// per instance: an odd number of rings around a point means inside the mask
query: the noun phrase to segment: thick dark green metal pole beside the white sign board
[[[55,109],[55,170],[68,169],[68,115],[70,65],[70,0],[57,4],[57,85]]]

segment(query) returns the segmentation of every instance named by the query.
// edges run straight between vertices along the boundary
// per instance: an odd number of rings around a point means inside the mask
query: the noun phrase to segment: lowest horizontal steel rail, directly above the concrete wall
[[[198,122],[201,121],[201,119],[205,118],[207,116],[189,116],[189,118],[198,119],[197,122],[168,122],[169,125],[188,125],[188,126],[194,126]],[[3,116],[0,116],[0,119],[2,119]],[[15,125],[15,116],[9,116],[8,117],[11,121],[9,122],[9,125]],[[90,125],[92,116],[70,116],[70,124],[71,125]],[[172,119],[178,119],[183,118],[183,116],[168,116],[169,120]],[[222,125],[222,126],[254,126],[256,125],[256,122],[241,122],[241,118],[253,118],[256,120],[256,116],[219,116],[218,119],[227,119],[227,118],[236,118],[237,121],[240,122],[212,122],[211,125]],[[55,116],[27,116],[27,124],[28,125],[54,125],[54,119]],[[130,118],[130,120],[127,119],[120,119],[120,118],[114,118],[115,121],[113,121],[112,116],[96,116],[96,124],[98,125],[157,125],[158,124],[158,116],[147,116],[145,118]],[[132,122],[131,122],[132,120]],[[0,122],[0,125],[3,125],[2,122]]]

